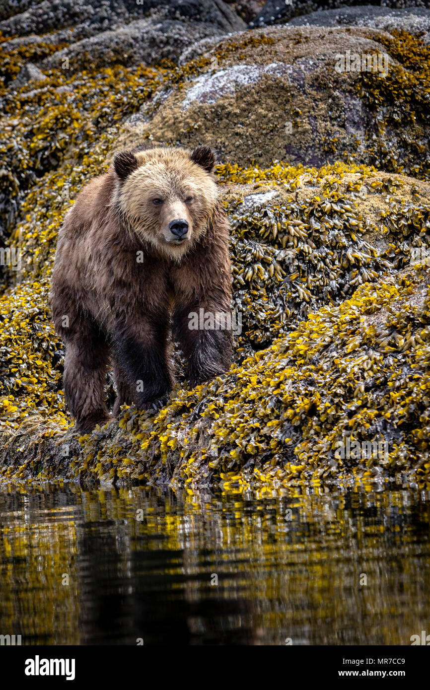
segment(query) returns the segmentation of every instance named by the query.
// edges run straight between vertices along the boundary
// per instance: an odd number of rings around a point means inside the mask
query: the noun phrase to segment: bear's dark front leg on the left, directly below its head
[[[167,348],[167,317],[145,315],[115,326],[115,357],[130,384],[130,395],[140,408],[165,402],[174,379]]]

